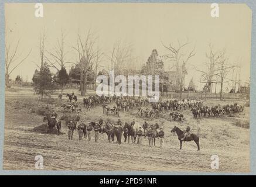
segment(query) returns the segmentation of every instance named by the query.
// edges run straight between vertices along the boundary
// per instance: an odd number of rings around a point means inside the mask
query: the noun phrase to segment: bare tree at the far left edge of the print
[[[7,30],[7,27],[6,27]],[[5,34],[7,34],[5,30]],[[9,87],[9,77],[11,73],[23,63],[28,57],[29,54],[31,53],[32,49],[29,51],[28,54],[26,54],[22,58],[22,53],[19,53],[19,41],[12,46],[12,43],[9,42],[8,37],[5,37],[5,85],[6,87]]]

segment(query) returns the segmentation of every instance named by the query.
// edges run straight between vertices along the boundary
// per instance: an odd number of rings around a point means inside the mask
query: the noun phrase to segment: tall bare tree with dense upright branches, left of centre
[[[97,56],[97,50],[95,50],[95,36],[89,30],[84,34],[84,39],[80,33],[77,34],[77,46],[73,47],[78,53],[78,67],[80,69],[80,91],[84,96],[87,91],[87,76],[88,72],[93,68],[93,62]]]

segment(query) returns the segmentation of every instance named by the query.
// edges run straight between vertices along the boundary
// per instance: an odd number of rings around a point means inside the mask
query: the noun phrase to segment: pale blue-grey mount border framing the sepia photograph
[[[52,170],[4,170],[4,131],[5,131],[5,3],[199,3],[199,4],[246,4],[252,11],[252,27],[251,27],[251,69],[250,69],[250,172],[201,172],[201,171],[189,171],[189,172],[160,172],[160,171],[52,171]],[[1,0],[0,2],[0,174],[1,175],[255,175],[256,174],[256,1],[254,0],[226,0],[226,1],[209,1],[209,0]],[[248,36],[249,37],[249,36]],[[238,153],[239,154],[239,153]],[[210,160],[210,158],[209,158]],[[209,161],[210,167],[210,161]]]

